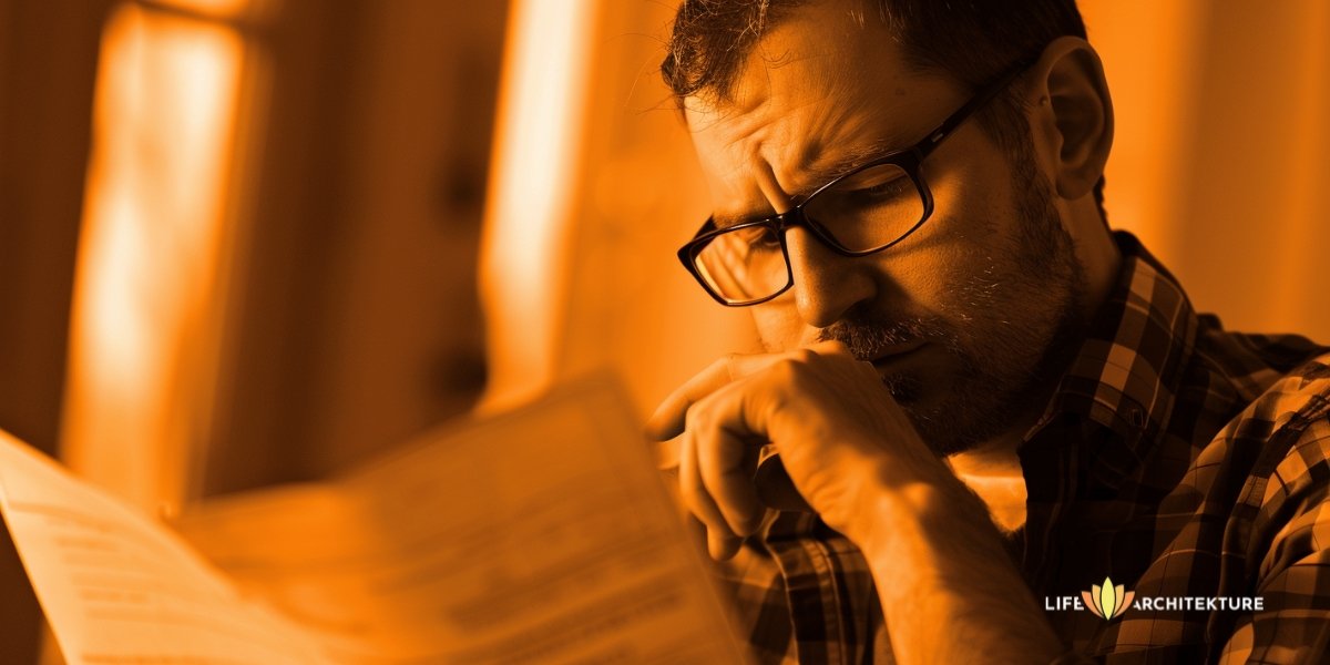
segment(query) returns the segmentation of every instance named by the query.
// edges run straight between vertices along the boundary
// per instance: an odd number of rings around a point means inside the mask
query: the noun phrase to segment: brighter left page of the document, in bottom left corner
[[[0,432],[0,509],[66,662],[329,662],[174,533]]]

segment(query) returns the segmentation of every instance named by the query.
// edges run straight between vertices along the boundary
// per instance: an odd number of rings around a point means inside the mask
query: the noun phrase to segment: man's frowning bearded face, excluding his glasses
[[[717,219],[789,210],[830,165],[910,146],[968,100],[947,78],[910,70],[850,4],[794,11],[749,56],[728,101],[688,100]],[[1016,153],[966,122],[923,165],[932,217],[879,254],[846,258],[789,230],[794,286],[751,307],[763,344],[845,342],[938,454],[1027,423],[1079,338],[1085,278],[1032,149]]]

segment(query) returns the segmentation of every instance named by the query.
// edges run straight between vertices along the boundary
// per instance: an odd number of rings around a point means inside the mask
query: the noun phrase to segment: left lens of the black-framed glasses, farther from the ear
[[[712,238],[693,257],[710,290],[726,302],[757,301],[790,282],[781,238],[763,226],[743,226]]]

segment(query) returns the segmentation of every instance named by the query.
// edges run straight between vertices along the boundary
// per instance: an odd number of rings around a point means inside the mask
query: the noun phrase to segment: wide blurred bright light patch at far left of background
[[[130,4],[100,61],[61,444],[72,468],[156,508],[180,500],[210,403],[242,41]]]

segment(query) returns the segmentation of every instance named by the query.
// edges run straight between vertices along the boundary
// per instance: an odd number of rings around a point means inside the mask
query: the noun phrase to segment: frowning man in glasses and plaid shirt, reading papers
[[[649,430],[759,660],[1330,658],[1327,348],[1225,332],[1108,230],[1084,37],[1072,0],[680,8],[714,202],[680,258],[769,352]]]

